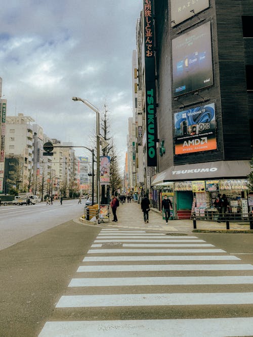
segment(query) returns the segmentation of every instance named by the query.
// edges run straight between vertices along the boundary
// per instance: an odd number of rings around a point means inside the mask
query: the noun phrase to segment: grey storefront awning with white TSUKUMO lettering
[[[247,178],[250,162],[247,160],[217,161],[198,164],[172,166],[151,178],[151,185],[166,181],[186,181],[198,179]]]

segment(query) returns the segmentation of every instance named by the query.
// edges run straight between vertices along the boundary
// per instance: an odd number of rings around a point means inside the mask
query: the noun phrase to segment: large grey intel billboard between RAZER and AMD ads
[[[173,94],[213,85],[210,22],[172,40]]]

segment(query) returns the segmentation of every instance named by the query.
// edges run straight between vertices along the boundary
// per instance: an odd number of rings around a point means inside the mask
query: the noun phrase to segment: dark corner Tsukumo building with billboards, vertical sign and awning
[[[145,187],[174,217],[205,214],[218,193],[247,204],[253,146],[253,3],[144,1],[137,22],[145,97]],[[184,215],[183,215],[184,214]]]

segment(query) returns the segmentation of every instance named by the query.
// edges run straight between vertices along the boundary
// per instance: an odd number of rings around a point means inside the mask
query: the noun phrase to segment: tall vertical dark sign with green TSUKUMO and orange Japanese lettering
[[[156,166],[156,93],[153,0],[144,0],[147,166]]]

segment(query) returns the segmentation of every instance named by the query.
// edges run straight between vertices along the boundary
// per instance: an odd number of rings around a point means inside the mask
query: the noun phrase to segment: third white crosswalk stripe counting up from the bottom
[[[74,286],[136,286],[136,285],[196,285],[196,284],[252,284],[253,276],[180,276],[180,277],[96,277],[72,278]]]

